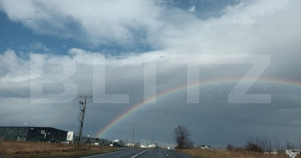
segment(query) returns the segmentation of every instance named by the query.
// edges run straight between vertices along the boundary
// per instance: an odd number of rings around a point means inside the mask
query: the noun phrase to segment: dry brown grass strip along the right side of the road
[[[181,152],[187,153],[189,155],[198,157],[198,158],[288,158],[288,155],[284,154],[266,154],[258,152],[249,152],[249,151],[229,151],[229,150],[217,150],[217,149],[183,149]],[[297,155],[295,158],[301,158],[300,155]]]

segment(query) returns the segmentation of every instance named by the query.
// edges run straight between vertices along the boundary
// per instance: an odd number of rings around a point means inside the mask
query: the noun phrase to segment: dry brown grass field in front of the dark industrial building
[[[111,147],[82,144],[77,149],[76,144],[29,142],[29,141],[2,141],[0,140],[0,153],[6,158],[10,157],[55,157],[76,156],[94,153],[110,152]]]

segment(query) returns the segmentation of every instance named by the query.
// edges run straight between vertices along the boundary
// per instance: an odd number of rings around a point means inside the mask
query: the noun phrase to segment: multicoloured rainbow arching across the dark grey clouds
[[[219,84],[219,83],[232,83],[232,82],[239,82],[241,78],[222,78],[222,79],[215,79],[215,80],[204,80],[204,81],[200,81],[200,82],[196,82],[196,83],[191,83],[189,85],[184,84],[172,89],[169,89],[167,91],[164,91],[156,96],[150,97],[147,100],[144,100],[144,102],[139,102],[137,104],[135,104],[134,106],[132,106],[131,108],[129,108],[128,110],[126,110],[125,112],[123,112],[122,114],[120,114],[118,117],[116,117],[114,120],[112,120],[110,123],[108,123],[104,128],[102,128],[99,132],[97,132],[96,137],[102,137],[102,135],[104,133],[106,133],[110,128],[112,128],[114,125],[116,125],[118,122],[120,122],[122,119],[124,119],[128,114],[134,112],[135,110],[137,110],[140,107],[143,107],[147,104],[149,104],[150,102],[152,102],[155,99],[160,99],[163,98],[165,96],[168,96],[170,94],[182,91],[182,90],[186,90],[188,88],[193,88],[196,86],[206,86],[206,85],[211,85],[211,84]],[[253,82],[254,79],[249,79],[249,80],[244,80],[244,82]],[[301,82],[297,82],[297,81],[289,81],[289,80],[277,80],[274,78],[258,78],[255,82],[262,82],[262,83],[273,83],[273,84],[279,84],[279,85],[288,85],[288,86],[298,86],[301,87]]]

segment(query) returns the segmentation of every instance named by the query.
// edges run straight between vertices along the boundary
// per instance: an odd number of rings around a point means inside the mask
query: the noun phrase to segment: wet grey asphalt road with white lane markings
[[[127,149],[110,153],[103,153],[82,158],[195,158],[185,153],[167,149]]]

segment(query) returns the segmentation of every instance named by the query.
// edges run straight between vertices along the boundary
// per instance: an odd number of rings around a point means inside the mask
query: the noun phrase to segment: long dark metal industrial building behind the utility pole
[[[67,131],[52,127],[2,126],[0,137],[5,140],[60,142],[66,141]]]

